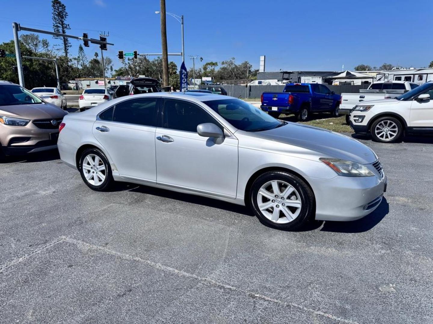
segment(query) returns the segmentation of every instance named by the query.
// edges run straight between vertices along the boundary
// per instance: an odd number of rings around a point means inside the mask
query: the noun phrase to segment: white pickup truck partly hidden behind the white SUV
[[[349,124],[350,112],[362,101],[393,99],[415,89],[419,86],[408,81],[381,81],[372,83],[368,89],[359,90],[359,93],[342,93],[339,115],[346,115],[346,123]]]

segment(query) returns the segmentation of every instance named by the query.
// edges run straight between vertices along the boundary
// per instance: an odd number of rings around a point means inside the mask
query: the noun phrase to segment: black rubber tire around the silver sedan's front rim
[[[259,204],[257,201],[259,190],[267,182],[273,180],[284,181],[294,187],[294,189],[297,191],[297,194],[299,194],[299,197],[297,197],[297,199],[299,199],[302,203],[301,211],[299,212],[298,216],[290,222],[286,222],[284,224],[279,224],[277,222],[271,221],[259,209]],[[278,203],[278,200],[276,201],[276,203]],[[305,226],[307,222],[314,219],[314,213],[316,209],[314,194],[311,188],[305,183],[304,180],[302,180],[298,176],[284,171],[270,171],[260,175],[252,184],[251,190],[249,192],[249,205],[252,209],[252,212],[263,225],[284,231],[294,231]],[[278,207],[283,208],[281,206]],[[282,220],[284,220],[284,213],[282,211],[279,215],[280,220],[281,218]]]

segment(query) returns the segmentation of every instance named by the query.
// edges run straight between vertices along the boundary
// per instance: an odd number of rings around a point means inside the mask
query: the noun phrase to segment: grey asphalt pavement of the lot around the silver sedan
[[[385,199],[300,232],[202,197],[94,192],[55,152],[8,158],[0,323],[433,323],[433,139],[361,140]]]

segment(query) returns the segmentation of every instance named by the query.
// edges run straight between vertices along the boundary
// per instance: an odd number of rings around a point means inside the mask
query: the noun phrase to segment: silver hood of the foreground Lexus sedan
[[[377,160],[375,152],[346,135],[308,125],[287,125],[255,133],[258,137],[310,149],[324,158],[343,159],[362,164]]]

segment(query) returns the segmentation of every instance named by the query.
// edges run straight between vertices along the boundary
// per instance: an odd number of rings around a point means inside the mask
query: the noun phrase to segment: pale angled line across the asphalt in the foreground
[[[332,319],[334,321],[337,321],[337,322],[340,322],[340,323],[359,324],[358,322],[347,320],[345,318],[340,318],[338,316],[326,313],[324,311],[317,311],[315,309],[308,308],[308,307],[305,307],[305,306],[302,306],[302,305],[298,305],[298,304],[295,304],[295,303],[292,303],[292,302],[283,302],[283,301],[281,301],[279,299],[274,299],[274,298],[268,297],[266,295],[262,295],[262,294],[251,292],[251,291],[248,291],[248,290],[245,290],[245,289],[241,289],[241,288],[236,287],[236,286],[227,285],[225,283],[218,282],[218,281],[210,279],[208,277],[197,276],[197,275],[195,275],[193,273],[189,273],[189,272],[186,272],[186,271],[183,271],[183,270],[178,270],[178,269],[175,269],[175,268],[172,268],[172,267],[168,267],[168,266],[165,266],[165,265],[160,264],[158,262],[153,262],[151,260],[145,260],[145,259],[142,259],[140,257],[132,256],[130,254],[120,253],[120,252],[114,251],[114,250],[109,249],[109,248],[104,247],[104,246],[90,244],[90,243],[87,243],[87,242],[84,242],[84,241],[81,241],[81,240],[70,238],[68,236],[61,236],[57,240],[51,241],[50,243],[41,246],[40,248],[38,248],[37,250],[33,251],[30,254],[26,254],[23,257],[20,257],[20,258],[18,258],[16,260],[13,260],[13,261],[11,261],[9,263],[4,264],[2,267],[0,267],[0,273],[2,273],[4,270],[6,270],[7,268],[9,268],[11,266],[13,266],[15,264],[18,264],[18,263],[22,262],[23,260],[28,259],[32,255],[40,253],[41,251],[44,251],[47,248],[50,248],[50,247],[52,247],[52,246],[54,246],[54,245],[56,245],[56,244],[58,244],[60,242],[67,242],[67,243],[76,245],[77,247],[85,247],[85,248],[94,249],[94,250],[97,250],[97,251],[101,251],[101,252],[104,252],[104,253],[107,253],[107,254],[114,255],[116,257],[120,257],[123,260],[131,260],[131,261],[136,261],[136,262],[140,262],[140,263],[143,263],[143,264],[147,264],[150,267],[154,267],[156,269],[163,270],[163,271],[168,272],[168,273],[176,274],[178,276],[183,276],[183,277],[188,277],[188,278],[194,278],[194,279],[196,279],[196,280],[198,280],[198,281],[200,281],[202,283],[207,283],[207,284],[209,284],[211,286],[216,286],[216,287],[223,288],[223,289],[229,289],[229,290],[232,290],[232,291],[242,292],[247,297],[252,298],[252,299],[261,299],[261,300],[264,300],[266,302],[271,302],[271,303],[274,303],[274,304],[277,304],[277,305],[281,305],[281,306],[285,306],[285,307],[294,307],[294,308],[297,308],[297,309],[299,309],[301,311],[306,311],[306,312],[309,312],[309,313],[314,314],[314,315],[319,315],[319,316],[322,316],[322,317],[325,317],[325,318],[330,318],[330,319]]]

